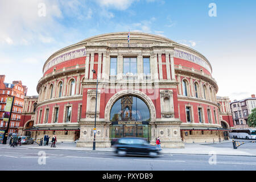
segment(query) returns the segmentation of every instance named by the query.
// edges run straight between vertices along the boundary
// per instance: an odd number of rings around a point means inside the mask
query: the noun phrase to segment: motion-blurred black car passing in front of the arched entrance
[[[115,142],[113,147],[114,152],[119,156],[147,155],[150,157],[156,157],[159,154],[159,148],[156,146],[152,146],[144,138],[119,138]]]

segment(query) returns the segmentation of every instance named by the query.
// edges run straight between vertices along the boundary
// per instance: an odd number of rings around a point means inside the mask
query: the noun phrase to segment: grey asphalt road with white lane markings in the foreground
[[[45,155],[44,155],[45,154]],[[1,148],[0,170],[67,171],[255,171],[254,156],[161,154],[119,157],[113,152]]]

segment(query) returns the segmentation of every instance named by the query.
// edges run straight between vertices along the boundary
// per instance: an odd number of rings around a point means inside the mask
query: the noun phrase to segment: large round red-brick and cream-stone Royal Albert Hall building
[[[207,58],[163,36],[130,32],[128,43],[127,35],[93,36],[47,59],[32,137],[92,147],[96,115],[96,147],[121,137],[160,137],[166,148],[223,140]]]

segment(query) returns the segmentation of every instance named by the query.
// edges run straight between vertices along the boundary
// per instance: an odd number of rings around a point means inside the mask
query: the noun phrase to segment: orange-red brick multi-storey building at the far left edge
[[[22,81],[13,81],[12,84],[9,84],[5,82],[5,75],[0,75],[0,130],[6,130],[8,124],[8,122],[3,121],[7,96],[14,96],[9,133],[18,132],[26,94],[27,86],[22,85]]]

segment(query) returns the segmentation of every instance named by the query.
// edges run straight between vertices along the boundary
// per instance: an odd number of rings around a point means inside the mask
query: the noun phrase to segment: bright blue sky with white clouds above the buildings
[[[161,35],[202,53],[231,101],[256,94],[256,1],[0,0],[0,75],[27,96],[52,53],[109,32]]]

